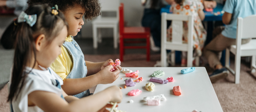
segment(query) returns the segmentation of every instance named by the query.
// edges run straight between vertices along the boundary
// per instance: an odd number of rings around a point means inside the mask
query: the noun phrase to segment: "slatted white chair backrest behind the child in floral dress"
[[[172,21],[172,41],[167,42],[167,21]],[[183,21],[188,21],[188,44],[182,43],[183,36]],[[193,26],[194,26],[194,18],[193,16],[185,16],[178,14],[167,14],[166,12],[162,13],[161,17],[161,44],[175,44],[176,46],[172,47],[172,50],[183,50],[183,51],[193,51]],[[187,47],[182,49],[181,46],[186,45]],[[168,49],[168,46],[167,48]],[[169,48],[170,49],[170,48]]]

